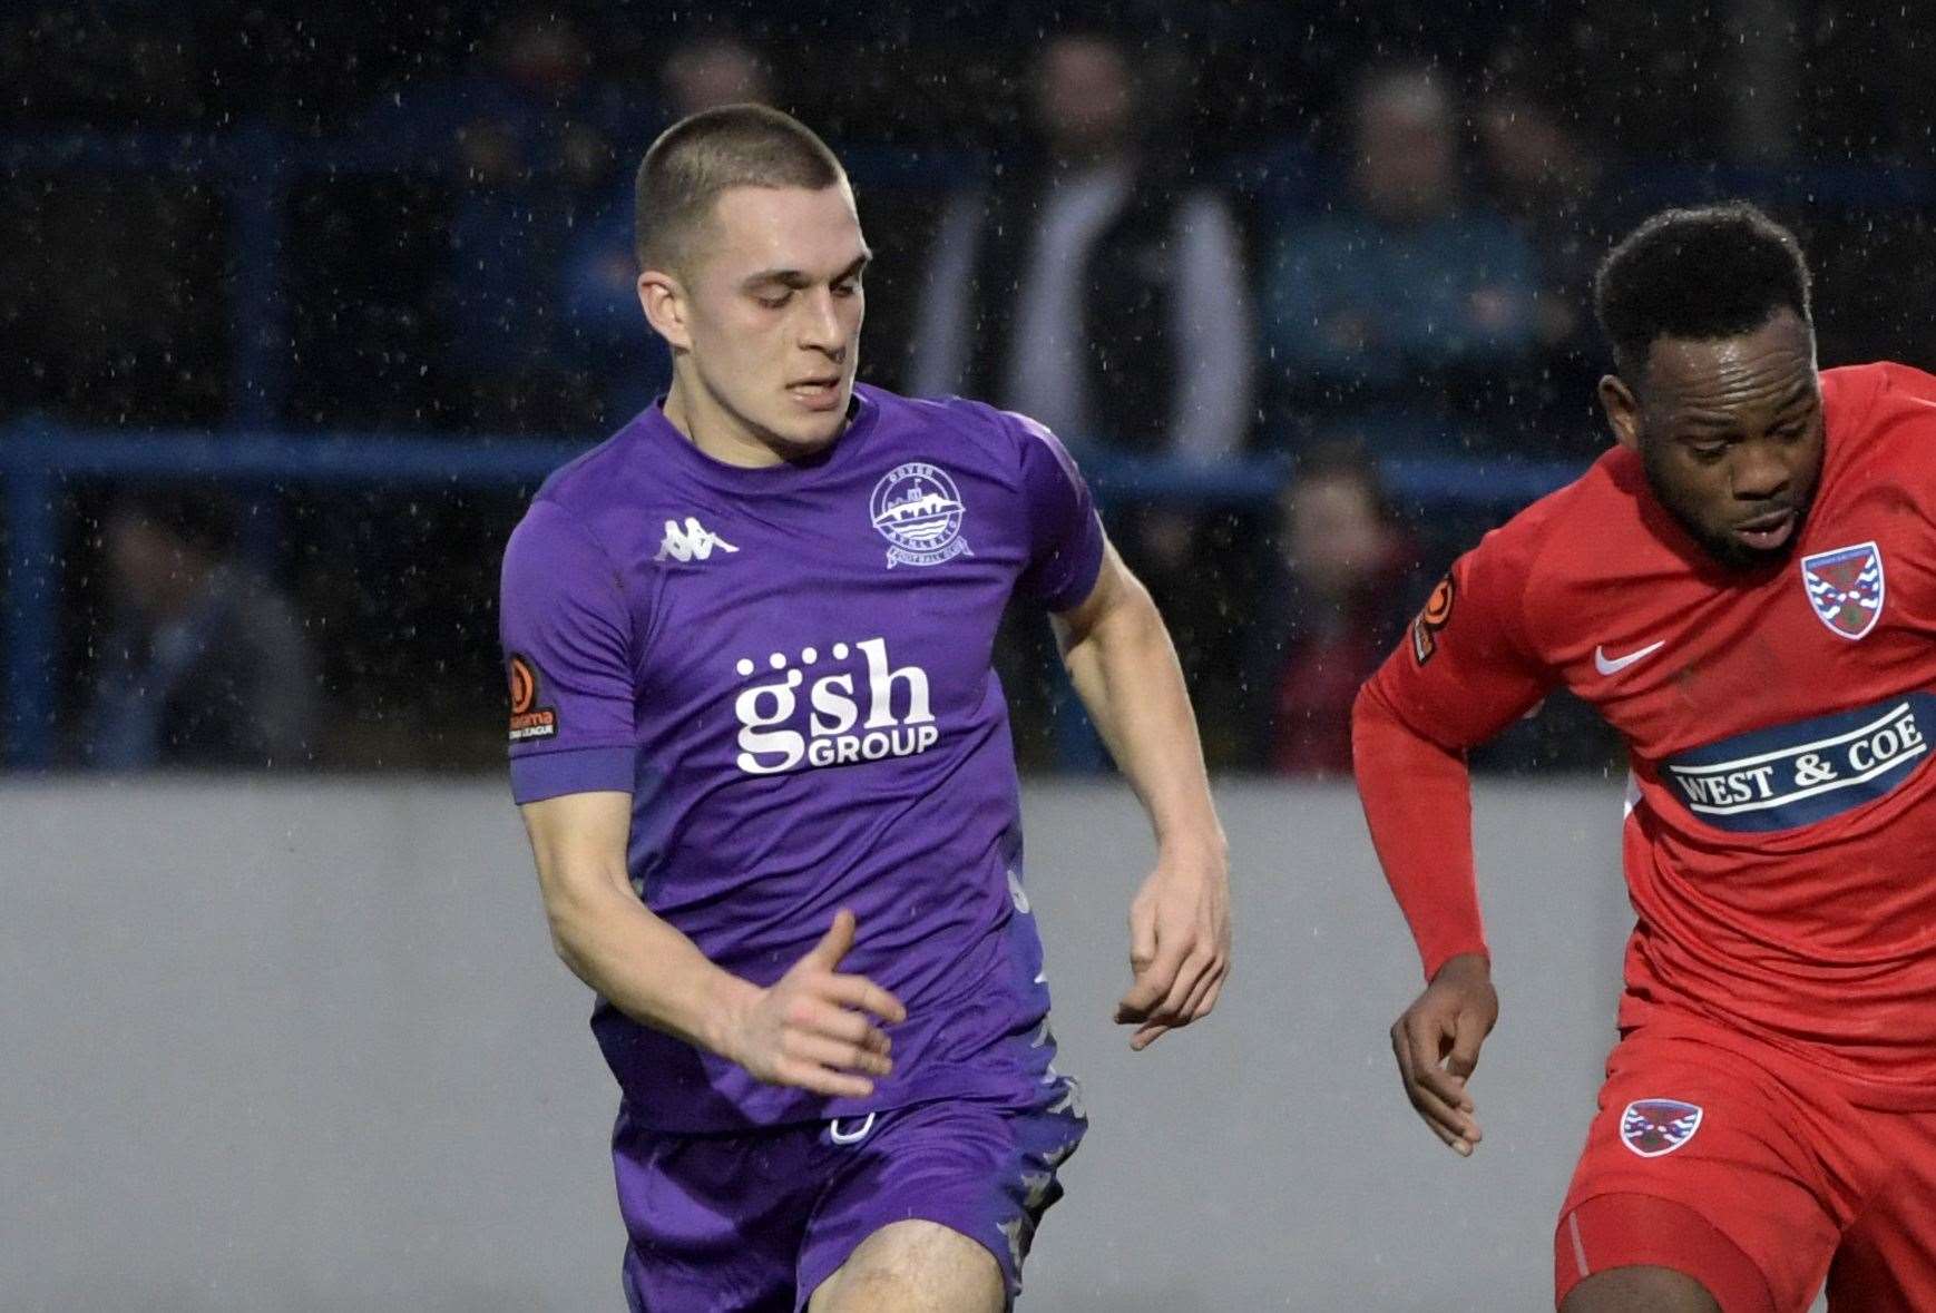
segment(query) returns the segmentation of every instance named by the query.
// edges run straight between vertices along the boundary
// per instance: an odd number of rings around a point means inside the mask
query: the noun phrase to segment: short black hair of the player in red
[[[1663,209],[1593,275],[1593,316],[1628,382],[1661,337],[1737,337],[1779,310],[1812,325],[1808,261],[1795,234],[1748,201]]]

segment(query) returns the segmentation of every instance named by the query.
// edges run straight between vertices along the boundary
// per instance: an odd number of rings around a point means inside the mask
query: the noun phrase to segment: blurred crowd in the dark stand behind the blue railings
[[[1357,684],[1516,509],[1407,502],[1386,471],[1593,459],[1588,289],[1638,217],[1781,188],[1762,199],[1810,246],[1824,364],[1936,356],[1926,184],[1901,186],[1936,139],[1913,19],[1512,8],[439,6],[356,29],[25,6],[0,19],[0,424],[238,426],[254,289],[285,380],[257,422],[590,443],[670,376],[633,294],[643,147],[699,108],[780,105],[858,184],[867,382],[1026,411],[1098,469],[1282,463],[1251,496],[1105,496],[1105,517],[1171,616],[1214,763],[1344,775]],[[1735,17],[1777,10],[1785,31],[1742,39]],[[279,170],[267,285],[227,186],[248,151]],[[494,565],[529,492],[70,488],[60,757],[494,761]],[[1042,627],[1013,626],[1003,664],[1024,761],[1080,761]],[[1489,765],[1609,751],[1555,699]]]

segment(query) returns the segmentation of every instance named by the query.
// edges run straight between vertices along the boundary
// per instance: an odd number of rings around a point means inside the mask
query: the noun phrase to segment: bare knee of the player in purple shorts
[[[807,1313],[1001,1313],[995,1255],[939,1222],[894,1222],[821,1282]]]

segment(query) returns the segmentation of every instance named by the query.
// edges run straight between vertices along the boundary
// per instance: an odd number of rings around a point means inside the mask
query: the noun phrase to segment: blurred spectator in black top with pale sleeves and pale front
[[[912,391],[966,393],[1127,451],[1229,455],[1251,422],[1237,227],[1183,159],[1138,141],[1129,52],[1049,41],[1036,68],[1044,155],[949,201]]]

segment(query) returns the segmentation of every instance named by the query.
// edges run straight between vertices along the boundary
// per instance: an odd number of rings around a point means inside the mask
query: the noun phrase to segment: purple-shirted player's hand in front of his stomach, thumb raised
[[[908,1009],[865,976],[834,970],[852,947],[854,914],[842,908],[805,957],[749,995],[720,1052],[769,1084],[836,1098],[873,1094],[867,1077],[885,1077],[894,1063],[887,1034],[869,1017],[898,1023]]]

